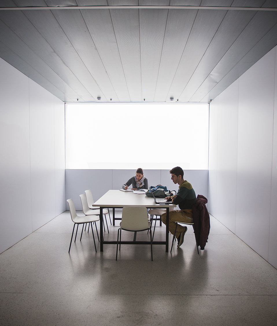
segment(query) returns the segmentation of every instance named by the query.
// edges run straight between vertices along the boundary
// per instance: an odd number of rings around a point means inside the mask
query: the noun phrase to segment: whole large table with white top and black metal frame
[[[116,244],[116,241],[105,241],[103,238],[103,208],[113,208],[113,225],[115,225],[115,208],[123,207],[146,207],[166,208],[166,233],[165,241],[153,241],[152,244],[165,244],[165,252],[168,252],[168,224],[169,207],[176,207],[175,204],[159,205],[152,197],[134,194],[132,191],[109,190],[92,206],[100,207],[100,251],[103,251],[103,244]],[[123,244],[133,244],[132,241],[122,241]],[[136,241],[137,244],[148,244],[149,241]]]

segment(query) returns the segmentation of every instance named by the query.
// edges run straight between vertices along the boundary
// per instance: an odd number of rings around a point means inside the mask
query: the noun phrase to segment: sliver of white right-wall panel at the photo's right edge
[[[277,51],[275,48],[275,62]],[[275,64],[275,80],[277,66]],[[271,205],[269,224],[269,255],[268,261],[277,268],[277,83],[275,82],[274,92],[274,125],[273,125],[273,153],[272,153],[272,179],[271,179]]]

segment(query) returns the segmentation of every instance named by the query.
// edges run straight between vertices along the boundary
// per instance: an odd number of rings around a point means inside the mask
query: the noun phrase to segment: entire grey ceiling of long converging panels
[[[209,101],[277,45],[276,0],[2,0],[0,6],[0,56],[66,101]]]

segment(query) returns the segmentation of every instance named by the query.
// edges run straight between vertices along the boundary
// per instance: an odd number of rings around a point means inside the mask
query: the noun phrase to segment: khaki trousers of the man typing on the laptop
[[[169,212],[169,231],[174,234],[176,222],[193,223],[192,209],[182,209]],[[162,214],[162,223],[166,224],[166,213]],[[184,232],[185,226],[177,224],[175,237],[178,238],[181,232]]]

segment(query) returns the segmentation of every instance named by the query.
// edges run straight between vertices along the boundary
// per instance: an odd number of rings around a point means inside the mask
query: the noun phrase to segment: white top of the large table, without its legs
[[[176,207],[175,204],[159,205],[152,197],[145,194],[134,194],[132,191],[124,192],[120,190],[109,190],[92,206],[99,207],[147,207],[147,208],[166,208]]]

